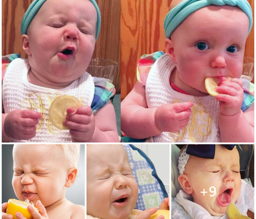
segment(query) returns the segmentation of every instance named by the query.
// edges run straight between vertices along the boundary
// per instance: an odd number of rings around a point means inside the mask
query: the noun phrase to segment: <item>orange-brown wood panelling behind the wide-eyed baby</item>
[[[164,51],[164,19],[172,0],[121,0],[121,99],[137,81],[141,55]],[[249,0],[254,9],[254,0]],[[254,27],[245,56],[254,57]]]

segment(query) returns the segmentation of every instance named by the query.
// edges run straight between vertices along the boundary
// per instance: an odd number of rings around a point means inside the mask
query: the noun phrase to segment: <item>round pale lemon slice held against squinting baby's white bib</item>
[[[55,127],[59,129],[68,129],[63,125],[63,122],[67,116],[67,109],[77,109],[81,106],[82,104],[80,101],[73,96],[59,96],[51,104],[49,109],[49,119]]]

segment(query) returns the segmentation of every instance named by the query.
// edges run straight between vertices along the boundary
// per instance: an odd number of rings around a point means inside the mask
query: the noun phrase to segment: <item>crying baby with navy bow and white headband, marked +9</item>
[[[178,168],[183,190],[172,201],[172,219],[227,219],[231,202],[243,215],[254,212],[254,188],[241,180],[234,145],[184,146]]]

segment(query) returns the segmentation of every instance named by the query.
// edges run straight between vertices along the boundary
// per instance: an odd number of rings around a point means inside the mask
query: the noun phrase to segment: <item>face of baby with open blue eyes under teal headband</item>
[[[249,19],[232,6],[204,7],[186,18],[166,40],[176,63],[171,79],[191,95],[207,95],[206,77],[239,78]],[[168,47],[169,46],[169,47]]]

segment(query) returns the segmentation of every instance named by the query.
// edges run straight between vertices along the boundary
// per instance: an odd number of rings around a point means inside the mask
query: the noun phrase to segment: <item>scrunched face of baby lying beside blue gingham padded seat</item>
[[[138,185],[121,145],[87,149],[87,214],[102,219],[127,219],[137,202]]]

